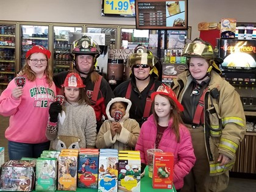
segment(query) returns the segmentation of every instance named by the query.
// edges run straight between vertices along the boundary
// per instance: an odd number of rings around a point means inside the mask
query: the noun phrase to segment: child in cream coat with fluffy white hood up
[[[126,98],[113,98],[107,104],[107,118],[99,129],[96,147],[133,150],[140,135],[140,126],[129,118],[132,102]]]

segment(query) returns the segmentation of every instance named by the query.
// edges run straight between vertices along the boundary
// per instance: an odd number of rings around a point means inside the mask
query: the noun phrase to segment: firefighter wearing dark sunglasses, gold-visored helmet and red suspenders
[[[130,118],[135,119],[140,126],[151,114],[151,93],[162,84],[157,80],[157,63],[158,60],[151,51],[141,44],[138,45],[135,53],[129,55],[126,62],[132,71],[130,79],[118,85],[113,91],[116,97],[125,97],[130,99],[132,104],[136,104],[130,108]]]

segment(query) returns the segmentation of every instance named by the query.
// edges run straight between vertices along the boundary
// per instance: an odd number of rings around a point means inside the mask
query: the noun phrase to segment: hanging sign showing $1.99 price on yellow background
[[[135,0],[105,0],[104,13],[135,15]]]

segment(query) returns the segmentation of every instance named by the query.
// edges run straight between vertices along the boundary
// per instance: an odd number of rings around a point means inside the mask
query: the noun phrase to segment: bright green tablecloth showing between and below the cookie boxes
[[[77,192],[98,192],[98,190],[93,189],[84,189],[84,188],[77,188]],[[141,185],[140,185],[140,191],[141,192],[176,192],[175,188],[173,187],[170,189],[154,189],[152,188],[152,179],[149,178],[149,169],[148,166],[145,168],[145,175],[141,178]]]

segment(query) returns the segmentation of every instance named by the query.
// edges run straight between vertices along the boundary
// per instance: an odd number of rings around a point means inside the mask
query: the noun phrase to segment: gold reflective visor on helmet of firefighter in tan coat
[[[183,56],[185,57],[202,57],[204,59],[213,59],[213,48],[208,43],[192,42],[188,43],[184,50]]]

